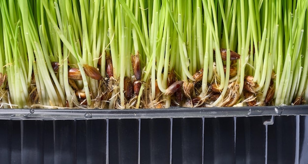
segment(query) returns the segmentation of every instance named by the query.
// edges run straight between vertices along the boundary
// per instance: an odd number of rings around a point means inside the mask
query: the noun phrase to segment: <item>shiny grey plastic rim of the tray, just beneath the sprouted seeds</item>
[[[308,115],[308,105],[167,109],[0,109],[0,120],[219,118]]]

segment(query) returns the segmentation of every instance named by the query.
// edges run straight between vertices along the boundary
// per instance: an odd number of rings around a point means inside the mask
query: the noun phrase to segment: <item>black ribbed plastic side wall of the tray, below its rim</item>
[[[307,164],[308,116],[0,120],[3,164]]]

